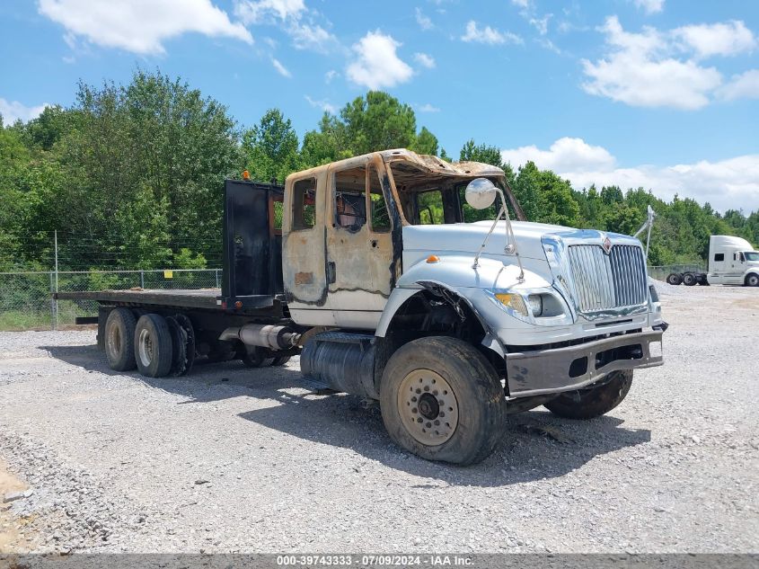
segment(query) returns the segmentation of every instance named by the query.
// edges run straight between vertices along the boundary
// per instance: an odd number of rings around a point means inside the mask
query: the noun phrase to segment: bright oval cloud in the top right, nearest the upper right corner
[[[683,26],[673,30],[672,34],[684,44],[685,49],[692,49],[699,58],[732,56],[751,51],[757,45],[754,32],[738,20]]]

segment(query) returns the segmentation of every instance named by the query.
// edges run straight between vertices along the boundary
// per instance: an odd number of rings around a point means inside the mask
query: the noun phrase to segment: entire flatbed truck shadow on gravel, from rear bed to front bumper
[[[238,413],[244,421],[302,440],[349,449],[385,467],[427,478],[419,487],[503,486],[551,479],[583,467],[593,458],[651,440],[649,430],[627,429],[613,416],[569,421],[539,408],[508,417],[503,439],[490,458],[472,467],[454,467],[416,458],[397,447],[384,430],[379,405],[365,405],[356,396],[314,393],[296,361],[287,367],[261,369],[247,369],[239,361],[229,361],[199,365],[181,378],[145,378],[136,371],[111,370],[93,345],[40,348],[69,364],[185,397],[178,405],[251,397],[265,406],[252,405],[252,410]],[[260,432],[251,429],[248,436],[255,440],[262,436]]]

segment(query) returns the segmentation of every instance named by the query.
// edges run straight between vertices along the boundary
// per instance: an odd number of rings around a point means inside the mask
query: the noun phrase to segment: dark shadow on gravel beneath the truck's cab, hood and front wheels
[[[447,485],[503,486],[550,479],[593,458],[651,440],[651,431],[626,429],[621,419],[612,416],[578,422],[534,410],[509,415],[503,439],[490,458],[472,467],[454,467],[422,460],[397,447],[384,430],[379,405],[366,408],[359,398],[342,394],[293,396],[280,392],[275,398],[280,405],[239,416],[300,439],[350,449],[385,467]]]

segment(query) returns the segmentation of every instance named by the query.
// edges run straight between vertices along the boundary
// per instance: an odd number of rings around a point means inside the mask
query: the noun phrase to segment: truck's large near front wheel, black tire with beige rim
[[[455,338],[419,338],[388,360],[380,386],[385,429],[428,460],[471,465],[487,458],[503,433],[506,400],[488,360]]]

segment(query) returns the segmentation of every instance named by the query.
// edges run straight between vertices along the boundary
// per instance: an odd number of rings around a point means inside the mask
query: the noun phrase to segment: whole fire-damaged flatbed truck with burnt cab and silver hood
[[[100,304],[112,369],[300,354],[312,382],[378,400],[404,449],[462,465],[508,413],[611,411],[666,330],[640,241],[527,222],[501,169],[405,149],[227,181],[220,290],[57,298]]]

